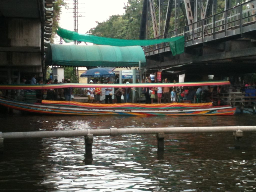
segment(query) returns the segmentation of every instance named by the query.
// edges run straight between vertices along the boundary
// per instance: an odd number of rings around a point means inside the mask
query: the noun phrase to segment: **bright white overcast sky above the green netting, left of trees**
[[[73,0],[64,1],[71,5],[69,9],[61,9],[60,27],[73,31]],[[111,15],[123,15],[124,3],[127,4],[127,0],[78,0],[78,16],[82,16],[78,17],[78,33],[87,33],[97,26],[96,21],[103,22]]]

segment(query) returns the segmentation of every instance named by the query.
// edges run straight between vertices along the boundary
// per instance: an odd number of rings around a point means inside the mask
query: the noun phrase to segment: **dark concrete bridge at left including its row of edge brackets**
[[[0,1],[0,83],[44,76],[54,0]]]

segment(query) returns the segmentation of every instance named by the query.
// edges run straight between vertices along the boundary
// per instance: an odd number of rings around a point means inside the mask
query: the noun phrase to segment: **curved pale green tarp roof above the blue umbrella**
[[[141,46],[49,44],[45,65],[72,67],[137,67],[145,66]]]

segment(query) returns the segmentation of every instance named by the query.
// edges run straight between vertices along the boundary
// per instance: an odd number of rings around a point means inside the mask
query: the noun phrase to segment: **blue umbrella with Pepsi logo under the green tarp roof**
[[[105,68],[93,68],[85,71],[80,77],[111,77],[115,76],[115,73]]]

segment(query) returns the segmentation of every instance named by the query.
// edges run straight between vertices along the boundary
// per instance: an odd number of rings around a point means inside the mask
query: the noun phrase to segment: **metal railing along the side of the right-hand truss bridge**
[[[242,3],[185,27],[170,31],[156,39],[184,36],[185,46],[241,34],[243,27],[256,23],[256,0]],[[239,29],[238,32],[235,29]],[[249,29],[251,30],[251,29]],[[253,30],[256,30],[254,26]],[[169,42],[143,47],[145,55],[170,51]]]

